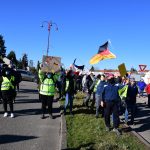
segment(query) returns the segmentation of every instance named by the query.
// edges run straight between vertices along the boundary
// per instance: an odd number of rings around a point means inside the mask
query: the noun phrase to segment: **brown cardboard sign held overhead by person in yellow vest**
[[[42,71],[43,72],[58,72],[61,67],[61,58],[55,56],[43,56]]]

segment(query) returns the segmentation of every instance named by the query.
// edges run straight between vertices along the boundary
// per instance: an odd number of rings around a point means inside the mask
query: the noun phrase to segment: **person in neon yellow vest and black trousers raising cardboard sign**
[[[53,119],[52,115],[52,103],[55,94],[55,82],[53,79],[53,73],[46,73],[46,76],[41,80],[40,84],[40,99],[42,102],[42,116],[41,119],[45,118],[46,106],[48,105],[49,117]]]

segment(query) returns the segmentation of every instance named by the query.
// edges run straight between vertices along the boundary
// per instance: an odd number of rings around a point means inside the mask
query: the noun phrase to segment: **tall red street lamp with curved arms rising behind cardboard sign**
[[[48,25],[48,43],[47,43],[47,56],[48,56],[48,52],[49,52],[49,37],[50,37],[50,30],[51,30],[51,27],[53,26],[53,25],[55,25],[55,27],[56,27],[56,31],[58,30],[58,26],[57,26],[57,24],[56,23],[54,23],[54,22],[52,22],[52,21],[43,21],[42,22],[42,25],[41,25],[41,27],[43,28],[44,27],[44,23],[47,23],[47,25]]]

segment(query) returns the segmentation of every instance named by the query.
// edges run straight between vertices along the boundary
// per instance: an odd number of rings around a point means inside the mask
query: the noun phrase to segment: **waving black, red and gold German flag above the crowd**
[[[98,53],[90,59],[90,64],[96,64],[104,59],[112,59],[116,58],[116,56],[111,53],[108,49],[108,41],[99,47]]]

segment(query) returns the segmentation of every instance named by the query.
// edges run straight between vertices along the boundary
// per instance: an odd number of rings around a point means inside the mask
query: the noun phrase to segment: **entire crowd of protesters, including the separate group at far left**
[[[145,84],[143,80],[136,82],[134,78],[128,75],[124,77],[114,76],[113,74],[98,74],[95,76],[92,72],[87,74],[79,74],[73,70],[61,69],[59,73],[42,72],[39,68],[39,99],[41,101],[42,116],[45,118],[46,108],[50,118],[54,118],[52,114],[53,100],[56,92],[59,94],[58,100],[65,98],[63,113],[69,104],[70,115],[73,115],[73,100],[77,92],[85,93],[83,99],[83,107],[94,109],[95,117],[104,117],[106,130],[110,131],[110,119],[113,121],[113,131],[119,132],[119,115],[124,114],[125,123],[134,124],[136,114],[137,96],[143,97],[144,90],[148,95],[148,107],[150,107],[150,83]],[[1,99],[4,107],[4,117],[8,116],[7,104],[10,106],[10,116],[14,117],[13,103],[16,97],[16,91],[19,90],[18,84],[21,82],[21,76],[17,71],[3,65],[0,75]],[[18,87],[16,89],[16,87]],[[56,90],[57,89],[57,90]],[[89,106],[89,102],[91,105]],[[129,112],[131,120],[129,121]]]

